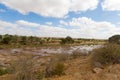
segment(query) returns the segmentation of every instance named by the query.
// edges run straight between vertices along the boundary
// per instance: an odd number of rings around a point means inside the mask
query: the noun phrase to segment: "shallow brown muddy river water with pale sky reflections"
[[[88,53],[93,49],[100,48],[102,45],[81,45],[81,46],[71,46],[71,47],[47,47],[47,48],[28,48],[28,49],[10,49],[10,50],[0,50],[0,53],[12,53],[12,54],[19,54],[19,53],[33,53],[41,56],[47,56],[51,53],[68,53],[71,54],[74,51],[79,51],[83,53]]]

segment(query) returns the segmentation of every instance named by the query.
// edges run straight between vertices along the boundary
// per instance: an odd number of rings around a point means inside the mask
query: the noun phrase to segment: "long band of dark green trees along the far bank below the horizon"
[[[110,42],[114,42],[115,40],[113,38],[109,39]],[[67,36],[65,38],[57,38],[57,37],[18,36],[18,35],[9,35],[9,34],[0,35],[0,44],[9,44],[9,45],[48,45],[48,44],[63,45],[63,44],[82,44],[82,43],[86,44],[86,42],[95,43],[101,41],[105,42],[106,40],[72,38],[70,36]]]

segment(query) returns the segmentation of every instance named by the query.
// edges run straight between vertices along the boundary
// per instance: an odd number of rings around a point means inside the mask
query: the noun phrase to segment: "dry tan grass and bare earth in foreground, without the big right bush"
[[[52,54],[37,59],[34,58],[36,55],[31,54],[14,55],[15,59],[11,61],[13,73],[0,76],[0,80],[120,80],[120,64],[105,66],[100,73],[93,73],[91,65],[93,55],[83,56],[78,53]],[[7,55],[1,57],[5,56],[7,57]],[[48,68],[50,76],[47,74],[46,77]]]

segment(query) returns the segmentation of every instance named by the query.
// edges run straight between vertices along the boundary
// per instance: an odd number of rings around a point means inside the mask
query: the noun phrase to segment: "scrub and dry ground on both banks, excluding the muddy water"
[[[75,50],[72,53],[31,54],[27,51],[9,52],[9,48],[1,48],[0,54],[0,80],[120,80],[120,44],[119,35],[107,40],[99,40],[101,47],[89,51],[87,54]],[[116,40],[117,39],[117,40]],[[42,42],[43,41],[43,42]],[[1,46],[25,45],[25,47],[44,47],[78,45],[78,41],[69,36],[66,38],[38,38],[32,36],[1,35]],[[86,41],[95,40],[89,39]],[[81,45],[81,42],[79,45]],[[30,44],[31,43],[31,44]],[[96,43],[99,43],[96,40]],[[29,46],[28,46],[29,45]],[[54,44],[55,45],[55,44]],[[83,45],[83,44],[82,44]],[[87,44],[90,45],[90,44]],[[92,44],[93,45],[93,44]],[[22,47],[26,49],[25,47]],[[56,46],[55,46],[56,47]],[[13,47],[12,47],[13,48]],[[38,48],[30,48],[34,52]],[[45,48],[45,47],[44,47]],[[6,50],[3,51],[2,50]]]

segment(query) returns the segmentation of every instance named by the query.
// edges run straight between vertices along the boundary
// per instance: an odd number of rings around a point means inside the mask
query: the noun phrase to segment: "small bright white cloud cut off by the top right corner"
[[[108,11],[120,11],[120,0],[104,0],[102,8]]]

